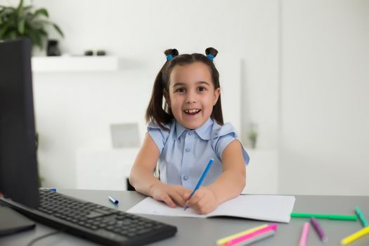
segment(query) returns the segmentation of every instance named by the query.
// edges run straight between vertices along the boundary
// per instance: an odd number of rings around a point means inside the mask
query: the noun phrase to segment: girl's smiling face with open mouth
[[[164,91],[177,122],[187,129],[197,129],[209,119],[219,94],[220,89],[214,89],[209,67],[200,62],[173,67],[169,94]]]

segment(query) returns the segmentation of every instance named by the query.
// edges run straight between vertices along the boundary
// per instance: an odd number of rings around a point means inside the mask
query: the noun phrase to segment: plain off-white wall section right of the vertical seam
[[[280,191],[369,195],[369,1],[283,1]]]

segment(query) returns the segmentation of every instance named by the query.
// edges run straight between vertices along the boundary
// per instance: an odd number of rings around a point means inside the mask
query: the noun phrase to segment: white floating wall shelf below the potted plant
[[[33,72],[99,72],[118,70],[117,56],[35,56]]]

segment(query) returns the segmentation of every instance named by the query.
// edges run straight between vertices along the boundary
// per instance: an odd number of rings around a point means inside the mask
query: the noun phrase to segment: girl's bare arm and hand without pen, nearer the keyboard
[[[139,193],[163,201],[170,207],[176,207],[176,204],[184,206],[186,200],[183,196],[188,190],[183,186],[168,186],[154,176],[159,157],[160,151],[155,141],[150,134],[146,134],[129,174],[129,183]]]

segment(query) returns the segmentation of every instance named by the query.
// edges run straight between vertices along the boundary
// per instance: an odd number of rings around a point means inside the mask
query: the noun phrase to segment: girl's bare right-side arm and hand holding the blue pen
[[[246,167],[240,141],[227,145],[222,154],[223,172],[219,179],[209,186],[201,186],[188,200],[188,206],[199,214],[212,212],[226,200],[240,195],[246,183]],[[190,193],[186,193],[188,199]]]

